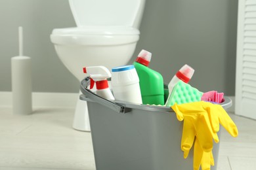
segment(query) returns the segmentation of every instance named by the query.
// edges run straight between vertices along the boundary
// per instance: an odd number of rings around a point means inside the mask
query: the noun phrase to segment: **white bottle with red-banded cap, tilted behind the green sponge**
[[[175,86],[175,84],[177,84],[179,80],[182,80],[183,82],[188,83],[193,75],[194,75],[194,69],[186,64],[183,65],[183,67],[181,67],[179,71],[177,71],[177,73],[173,76],[173,78],[168,84],[169,95],[168,95],[167,101],[165,102],[165,106],[169,107],[171,92],[173,92],[173,87]]]

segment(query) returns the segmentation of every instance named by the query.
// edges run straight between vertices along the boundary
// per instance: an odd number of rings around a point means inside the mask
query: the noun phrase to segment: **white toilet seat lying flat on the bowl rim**
[[[53,35],[139,35],[140,31],[134,27],[108,26],[108,27],[68,27],[53,29]]]

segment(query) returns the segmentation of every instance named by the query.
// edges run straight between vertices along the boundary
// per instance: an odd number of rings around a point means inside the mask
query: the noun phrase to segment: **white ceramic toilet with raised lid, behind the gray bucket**
[[[126,65],[139,41],[146,0],[69,0],[77,27],[54,29],[51,41],[64,65],[79,80],[83,67]],[[67,82],[68,83],[68,82]],[[90,131],[87,103],[77,99],[74,129]]]

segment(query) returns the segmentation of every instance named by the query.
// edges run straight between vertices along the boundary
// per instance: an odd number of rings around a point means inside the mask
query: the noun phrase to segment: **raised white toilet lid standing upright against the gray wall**
[[[146,0],[69,0],[77,27],[130,26],[139,28]]]

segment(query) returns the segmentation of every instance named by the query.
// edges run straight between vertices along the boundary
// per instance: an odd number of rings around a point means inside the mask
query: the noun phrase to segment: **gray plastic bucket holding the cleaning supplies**
[[[97,170],[193,169],[193,148],[184,159],[182,122],[170,107],[109,101],[88,90],[89,83],[81,81],[80,99],[87,101]],[[227,109],[232,101],[226,97],[221,105]],[[214,144],[211,169],[218,154]]]

